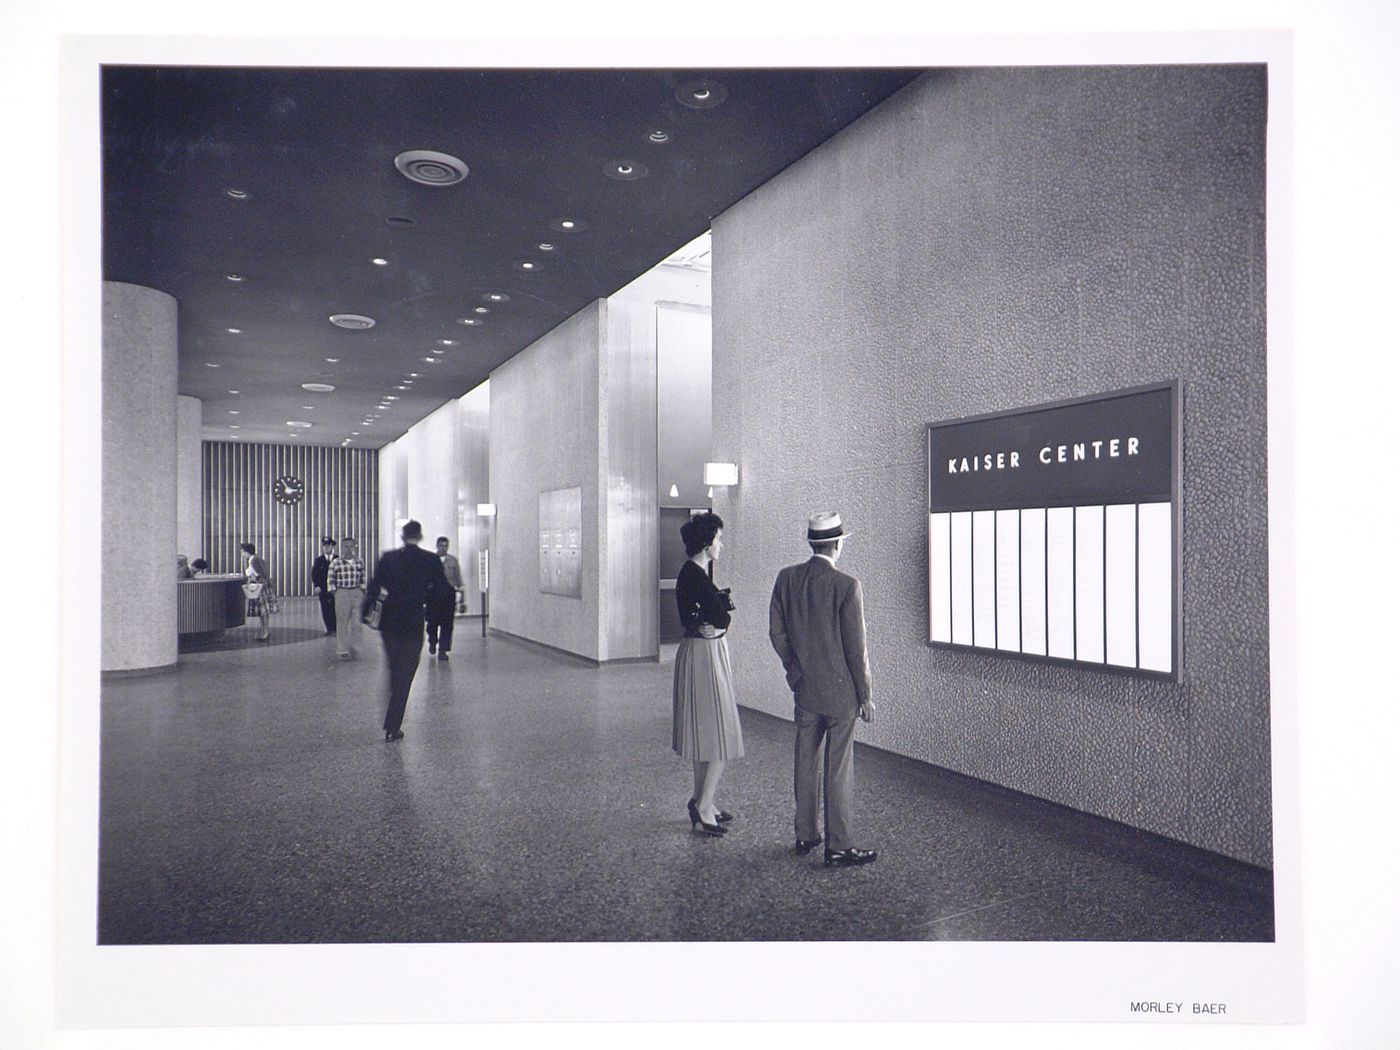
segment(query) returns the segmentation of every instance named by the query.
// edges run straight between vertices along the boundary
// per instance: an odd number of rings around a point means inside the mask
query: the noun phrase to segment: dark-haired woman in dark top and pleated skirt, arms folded
[[[722,531],[724,521],[711,512],[697,514],[682,525],[686,563],[676,574],[676,606],[685,637],[676,650],[671,746],[680,757],[690,759],[694,771],[694,794],[687,804],[690,829],[708,836],[724,834],[722,825],[732,819],[715,806],[714,794],[725,763],[743,757],[729,645],[724,640],[734,603],[729,592],[710,580],[710,566],[724,550]]]

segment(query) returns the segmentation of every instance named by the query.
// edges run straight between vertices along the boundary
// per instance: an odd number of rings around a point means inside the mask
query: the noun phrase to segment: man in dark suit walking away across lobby
[[[374,578],[365,592],[365,608],[384,595],[379,615],[379,637],[384,655],[389,661],[389,707],[384,713],[384,739],[403,739],[403,708],[409,703],[409,689],[423,655],[423,615],[428,602],[437,601],[444,589],[451,589],[442,575],[437,554],[421,550],[423,526],[416,521],[403,524],[403,546],[386,550],[374,567]]]

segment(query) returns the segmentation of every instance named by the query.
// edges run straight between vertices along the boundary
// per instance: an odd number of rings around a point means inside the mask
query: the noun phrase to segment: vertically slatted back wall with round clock
[[[213,573],[242,568],[248,542],[267,561],[279,594],[311,594],[311,563],[321,538],[356,536],[361,552],[379,549],[378,451],[321,445],[206,441],[203,445],[204,550]],[[283,475],[301,480],[301,503],[273,496]],[[193,556],[192,556],[193,557]]]

